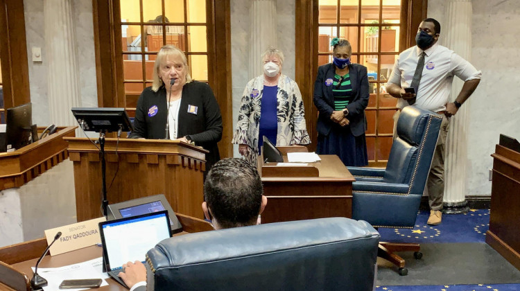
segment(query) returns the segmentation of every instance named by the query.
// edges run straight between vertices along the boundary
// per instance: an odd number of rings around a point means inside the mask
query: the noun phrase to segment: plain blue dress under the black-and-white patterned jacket
[[[261,152],[263,145],[263,136],[266,136],[272,144],[276,145],[276,136],[278,133],[277,119],[277,93],[278,86],[263,86],[261,110],[260,110],[260,126],[258,132],[258,152]]]

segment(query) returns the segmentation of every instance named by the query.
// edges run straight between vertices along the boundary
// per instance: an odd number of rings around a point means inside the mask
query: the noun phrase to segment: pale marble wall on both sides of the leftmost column
[[[96,58],[94,51],[94,26],[92,21],[92,1],[71,1],[74,19],[75,39],[80,69],[81,106],[98,105],[96,85]],[[33,103],[33,123],[46,126],[52,121],[47,98],[48,58],[46,58],[44,32],[44,0],[24,0],[26,21],[27,55],[29,81],[31,83],[31,103]],[[42,48],[42,62],[33,62],[32,48]],[[66,96],[64,96],[66,97]]]

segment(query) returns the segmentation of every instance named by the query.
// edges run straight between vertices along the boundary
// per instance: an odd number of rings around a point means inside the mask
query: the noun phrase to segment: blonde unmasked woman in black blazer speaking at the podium
[[[173,139],[209,150],[206,172],[220,160],[222,116],[211,88],[192,80],[186,55],[167,45],[157,53],[153,84],[139,96],[133,139]]]

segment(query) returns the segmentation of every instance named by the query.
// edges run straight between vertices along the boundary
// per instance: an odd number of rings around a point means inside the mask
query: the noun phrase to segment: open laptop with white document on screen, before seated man
[[[117,276],[123,264],[144,263],[146,252],[171,237],[168,211],[158,211],[99,223],[105,268],[112,279],[127,285]]]

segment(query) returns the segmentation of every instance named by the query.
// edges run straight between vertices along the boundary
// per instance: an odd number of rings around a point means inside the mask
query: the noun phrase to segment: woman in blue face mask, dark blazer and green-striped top
[[[313,101],[320,112],[316,152],[338,155],[345,166],[367,166],[367,68],[350,62],[352,47],[346,39],[335,37],[331,46],[333,62],[320,66],[314,83]]]

